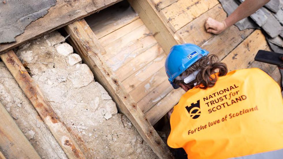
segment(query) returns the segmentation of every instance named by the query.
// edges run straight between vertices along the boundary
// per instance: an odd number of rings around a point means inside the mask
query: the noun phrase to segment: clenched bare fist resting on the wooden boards
[[[225,22],[218,22],[217,20],[214,20],[212,18],[207,18],[205,21],[205,30],[208,33],[213,34],[220,34],[222,31],[226,29]]]

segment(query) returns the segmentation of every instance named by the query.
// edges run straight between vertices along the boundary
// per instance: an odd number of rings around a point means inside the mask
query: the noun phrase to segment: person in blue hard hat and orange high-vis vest
[[[173,46],[165,69],[173,88],[186,91],[170,116],[170,147],[196,159],[283,158],[282,94],[267,73],[227,73],[194,44]]]

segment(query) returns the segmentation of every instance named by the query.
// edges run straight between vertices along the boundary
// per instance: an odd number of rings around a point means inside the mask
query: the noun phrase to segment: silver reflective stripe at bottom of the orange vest
[[[235,157],[230,159],[282,159],[283,158],[283,149],[263,152],[259,154],[253,154],[243,157]]]

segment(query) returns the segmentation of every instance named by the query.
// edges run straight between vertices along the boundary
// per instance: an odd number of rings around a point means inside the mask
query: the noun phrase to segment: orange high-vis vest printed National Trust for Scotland
[[[174,107],[170,125],[168,145],[183,147],[188,158],[233,158],[280,150],[280,86],[257,68],[231,71],[211,88],[186,92]]]

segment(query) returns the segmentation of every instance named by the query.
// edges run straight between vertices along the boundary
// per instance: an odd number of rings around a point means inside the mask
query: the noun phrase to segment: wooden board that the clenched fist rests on
[[[176,33],[183,39],[184,43],[194,43],[200,46],[214,35],[206,32],[204,25],[205,20],[208,17],[211,17],[215,20],[222,21],[226,18],[226,16],[227,14],[223,10],[221,4],[218,4],[189,24],[185,25]]]

